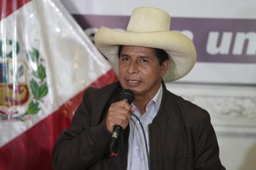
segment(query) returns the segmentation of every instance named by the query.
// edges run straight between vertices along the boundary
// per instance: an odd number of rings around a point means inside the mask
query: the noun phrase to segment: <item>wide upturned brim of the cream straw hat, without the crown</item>
[[[184,34],[174,31],[131,32],[100,27],[95,34],[95,45],[108,58],[118,74],[118,46],[143,46],[165,50],[170,59],[170,67],[164,81],[175,81],[191,71],[196,62],[193,42]]]

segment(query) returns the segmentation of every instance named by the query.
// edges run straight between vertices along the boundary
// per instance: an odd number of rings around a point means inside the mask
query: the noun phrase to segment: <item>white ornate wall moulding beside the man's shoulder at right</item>
[[[207,110],[217,134],[256,136],[256,87],[166,83],[168,90]]]

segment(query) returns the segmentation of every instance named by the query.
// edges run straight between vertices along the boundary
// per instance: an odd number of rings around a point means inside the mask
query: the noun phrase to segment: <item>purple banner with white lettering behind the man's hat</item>
[[[100,26],[126,29],[129,17],[73,15],[85,30]],[[171,30],[193,39],[198,62],[256,63],[256,20],[172,18]]]

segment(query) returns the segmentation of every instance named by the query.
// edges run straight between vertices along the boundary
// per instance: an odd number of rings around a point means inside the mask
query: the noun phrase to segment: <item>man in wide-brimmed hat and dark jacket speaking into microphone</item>
[[[70,128],[56,142],[54,169],[225,169],[207,111],[164,85],[189,73],[196,61],[193,43],[169,27],[170,16],[157,8],[136,8],[127,31],[100,27],[95,43],[119,82],[86,90]],[[122,89],[134,92],[131,105],[118,100]],[[150,167],[131,113],[143,124]],[[115,125],[124,130],[118,155],[109,157]]]

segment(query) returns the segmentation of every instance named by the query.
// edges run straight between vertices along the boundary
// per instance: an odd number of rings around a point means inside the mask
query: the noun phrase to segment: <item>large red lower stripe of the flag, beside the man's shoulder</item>
[[[116,81],[116,76],[111,69],[88,87],[102,87],[113,81]],[[70,125],[72,113],[81,103],[84,90],[63,104],[59,110],[1,147],[0,170],[51,170],[54,143],[63,129]]]

